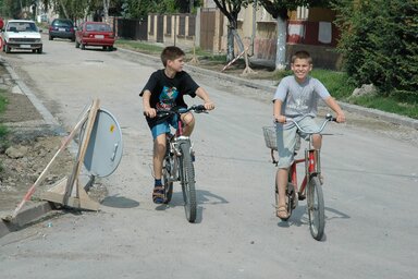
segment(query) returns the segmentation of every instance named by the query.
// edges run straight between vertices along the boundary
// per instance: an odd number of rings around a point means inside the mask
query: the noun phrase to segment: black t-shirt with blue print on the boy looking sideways
[[[158,70],[151,74],[139,96],[143,97],[144,92],[149,90],[151,93],[149,105],[155,109],[187,108],[183,96],[196,97],[197,88],[199,85],[184,71],[170,78],[165,75],[164,70]],[[147,118],[147,121],[150,126],[156,124],[153,119]]]

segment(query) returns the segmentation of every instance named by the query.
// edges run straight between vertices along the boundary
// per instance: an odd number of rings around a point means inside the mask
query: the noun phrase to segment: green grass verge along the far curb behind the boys
[[[156,56],[159,56],[161,50],[164,48],[163,46],[156,44],[125,39],[119,39],[116,41],[116,47],[118,46]],[[193,49],[186,50],[185,52],[188,58],[193,56]],[[216,56],[207,51],[202,51],[199,48],[195,49],[195,53],[199,61],[206,61],[210,64],[219,63],[220,65],[224,65],[226,63],[225,54]],[[275,71],[274,74],[271,75],[271,78],[279,82],[282,77],[290,74],[292,74],[292,71]],[[314,69],[310,74],[311,76],[320,80],[325,85],[331,95],[337,100],[418,119],[418,106],[416,101],[399,101],[394,97],[385,97],[378,94],[361,97],[351,97],[356,86],[348,82],[349,77],[346,73]]]

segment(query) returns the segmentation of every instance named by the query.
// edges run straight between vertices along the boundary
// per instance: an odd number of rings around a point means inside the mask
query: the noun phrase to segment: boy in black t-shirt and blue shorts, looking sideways
[[[157,70],[151,74],[139,96],[143,97],[143,108],[149,129],[153,137],[153,173],[155,186],[152,201],[162,204],[163,187],[161,182],[162,160],[165,155],[165,134],[170,132],[170,125],[176,128],[175,121],[156,123],[157,110],[169,110],[173,107],[187,107],[183,96],[198,96],[204,100],[207,110],[214,109],[207,92],[195,83],[195,81],[183,71],[185,53],[182,49],[171,46],[161,52],[161,61],[164,69]],[[182,114],[184,122],[184,135],[190,135],[195,125],[195,118],[190,112]]]

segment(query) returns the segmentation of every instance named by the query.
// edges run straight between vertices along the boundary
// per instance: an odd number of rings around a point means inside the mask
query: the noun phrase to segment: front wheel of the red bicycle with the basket
[[[317,175],[310,179],[307,191],[307,205],[310,234],[319,241],[322,239],[325,228],[325,209],[322,186]]]

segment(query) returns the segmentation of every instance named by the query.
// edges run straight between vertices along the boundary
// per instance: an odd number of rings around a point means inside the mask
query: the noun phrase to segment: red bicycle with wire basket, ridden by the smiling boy
[[[306,118],[306,117],[304,117]],[[304,119],[303,118],[303,119]],[[304,201],[307,198],[308,216],[309,216],[309,230],[310,234],[316,240],[321,240],[323,236],[323,231],[325,227],[325,214],[324,214],[324,201],[322,192],[322,182],[321,182],[321,160],[320,160],[320,150],[315,149],[312,146],[312,134],[319,134],[323,131],[325,125],[331,121],[336,121],[331,114],[327,114],[324,121],[318,129],[318,131],[305,131],[303,130],[298,122],[293,119],[287,119],[293,122],[297,128],[297,140],[295,147],[295,157],[297,150],[300,148],[300,136],[299,133],[305,133],[309,135],[309,144],[305,148],[305,156],[299,159],[295,159],[288,170],[288,182],[286,185],[286,209],[287,218],[282,219],[286,221],[293,209],[298,205],[298,201]],[[302,120],[302,119],[300,119]],[[300,121],[299,120],[299,121]],[[275,136],[275,126],[263,126],[265,142],[268,148],[271,149],[272,162],[278,166],[278,160],[274,158],[274,150],[278,150],[278,143]],[[305,165],[305,174],[300,185],[297,184],[297,165]],[[279,206],[279,190],[278,183],[275,181],[274,185],[275,194],[275,206]]]

